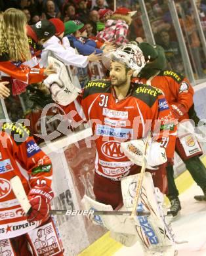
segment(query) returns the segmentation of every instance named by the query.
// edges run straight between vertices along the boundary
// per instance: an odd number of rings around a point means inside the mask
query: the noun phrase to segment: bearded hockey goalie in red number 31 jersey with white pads
[[[94,216],[91,221],[111,230],[112,238],[121,244],[131,246],[139,241],[146,255],[175,255],[163,196],[154,188],[150,173],[144,173],[145,168],[154,170],[174,156],[176,125],[171,108],[160,90],[131,82],[145,65],[136,45],[119,47],[109,58],[110,79],[89,81],[81,93],[70,82],[59,83],[58,75],[44,82],[64,109],[64,118],[72,118],[73,123],[88,122],[93,130],[96,200],[84,196],[83,209],[132,211],[140,179],[135,211],[150,211],[150,217]],[[144,152],[150,131],[150,150]]]

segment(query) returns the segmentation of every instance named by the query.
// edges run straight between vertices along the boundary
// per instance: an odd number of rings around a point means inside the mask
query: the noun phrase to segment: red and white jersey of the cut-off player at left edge
[[[51,186],[51,160],[20,123],[3,123],[0,131],[0,240],[20,236],[39,226],[29,223],[10,186],[20,177],[26,194],[38,184]]]

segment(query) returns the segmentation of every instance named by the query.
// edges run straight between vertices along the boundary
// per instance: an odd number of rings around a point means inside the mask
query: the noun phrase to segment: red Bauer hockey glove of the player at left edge
[[[31,204],[31,212],[28,221],[43,221],[49,217],[49,207],[54,193],[47,185],[35,186],[28,194]]]

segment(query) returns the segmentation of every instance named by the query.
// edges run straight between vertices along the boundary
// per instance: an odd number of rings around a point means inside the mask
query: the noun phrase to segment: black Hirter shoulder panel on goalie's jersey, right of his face
[[[154,102],[157,100],[159,95],[162,95],[162,91],[151,85],[144,85],[140,83],[134,84],[132,96],[139,98],[150,108],[154,105]]]

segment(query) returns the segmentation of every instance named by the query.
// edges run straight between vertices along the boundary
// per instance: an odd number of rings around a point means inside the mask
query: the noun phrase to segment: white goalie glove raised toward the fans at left
[[[81,89],[75,87],[70,80],[66,66],[55,58],[48,58],[49,64],[52,64],[57,70],[57,74],[52,74],[44,80],[44,84],[52,94],[52,99],[58,104],[66,106],[73,102],[81,93]]]

